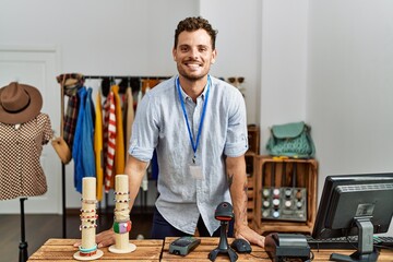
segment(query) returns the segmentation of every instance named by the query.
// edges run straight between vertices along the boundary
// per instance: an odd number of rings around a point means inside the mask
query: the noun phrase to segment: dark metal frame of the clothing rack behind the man
[[[170,76],[163,76],[163,75],[85,75],[82,74],[84,81],[86,80],[104,80],[104,79],[110,79],[110,80],[131,80],[131,79],[138,79],[140,81],[140,88],[142,87],[142,81],[143,80],[167,80]],[[64,93],[61,88],[61,118],[64,117]],[[61,126],[60,132],[62,132],[63,127]],[[61,164],[61,181],[62,181],[62,237],[67,238],[67,209],[66,209],[66,165]],[[142,190],[142,189],[141,189]],[[105,194],[105,201],[106,201],[106,210],[108,211],[108,193]],[[142,203],[143,202],[143,203]],[[144,192],[144,194],[141,194],[141,206],[145,205],[147,202],[147,193]],[[99,210],[100,210],[100,203],[99,203]],[[108,212],[107,212],[108,213]]]

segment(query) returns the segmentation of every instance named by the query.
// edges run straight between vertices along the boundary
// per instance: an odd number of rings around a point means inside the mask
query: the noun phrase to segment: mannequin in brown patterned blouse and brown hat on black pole
[[[41,107],[36,87],[13,82],[0,88],[0,200],[20,198],[20,262],[27,260],[24,201],[47,191],[39,157],[52,130]]]

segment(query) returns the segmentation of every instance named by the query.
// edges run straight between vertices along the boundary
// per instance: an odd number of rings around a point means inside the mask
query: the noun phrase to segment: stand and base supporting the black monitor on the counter
[[[378,252],[373,248],[373,225],[368,217],[354,218],[358,233],[357,251],[349,254],[332,253],[330,261],[357,261],[357,262],[374,262],[378,260]]]

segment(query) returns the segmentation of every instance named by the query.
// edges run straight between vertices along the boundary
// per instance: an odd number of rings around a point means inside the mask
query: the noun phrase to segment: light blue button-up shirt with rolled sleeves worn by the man
[[[129,154],[148,162],[157,150],[159,196],[156,207],[177,229],[194,234],[201,214],[212,235],[219,222],[215,209],[229,202],[225,156],[236,157],[248,150],[246,105],[241,93],[211,76],[204,123],[196,150],[196,165],[203,179],[190,174],[193,150],[175,82],[176,76],[158,84],[138,105],[132,126]],[[196,104],[181,90],[190,128],[196,140],[206,88]]]

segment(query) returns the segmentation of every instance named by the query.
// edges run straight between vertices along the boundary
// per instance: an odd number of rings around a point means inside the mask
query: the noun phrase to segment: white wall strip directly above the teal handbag
[[[269,127],[306,120],[308,1],[262,4],[261,154]]]

